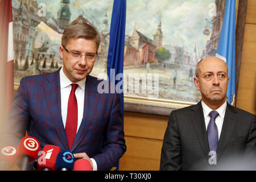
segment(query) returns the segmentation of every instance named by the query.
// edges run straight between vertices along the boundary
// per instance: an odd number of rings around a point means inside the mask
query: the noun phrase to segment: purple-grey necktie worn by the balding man
[[[210,122],[207,126],[207,137],[209,142],[210,151],[217,151],[218,147],[218,129],[215,123],[215,118],[218,116],[217,111],[210,111]]]

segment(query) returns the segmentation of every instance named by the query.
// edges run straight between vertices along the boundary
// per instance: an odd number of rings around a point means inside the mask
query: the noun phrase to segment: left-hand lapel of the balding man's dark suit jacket
[[[204,151],[205,158],[208,160],[209,143],[207,138],[207,131],[205,127],[203,107],[201,105],[201,102],[199,102],[197,105],[192,106],[191,110],[192,123],[196,130],[197,138],[199,139],[201,148]]]

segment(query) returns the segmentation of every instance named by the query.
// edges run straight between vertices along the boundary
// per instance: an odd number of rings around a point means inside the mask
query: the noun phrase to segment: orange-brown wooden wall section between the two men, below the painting
[[[157,171],[168,117],[125,112],[127,151],[119,161],[119,170]]]

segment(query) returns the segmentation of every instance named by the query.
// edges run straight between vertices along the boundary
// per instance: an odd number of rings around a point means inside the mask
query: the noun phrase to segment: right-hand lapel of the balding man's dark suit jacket
[[[218,148],[217,148],[217,162],[220,160],[227,144],[229,141],[229,138],[231,137],[234,126],[236,125],[236,117],[235,114],[237,111],[232,107],[231,105],[227,104],[226,106],[226,112],[224,117],[224,122],[221,129],[221,135],[220,140],[218,142]]]

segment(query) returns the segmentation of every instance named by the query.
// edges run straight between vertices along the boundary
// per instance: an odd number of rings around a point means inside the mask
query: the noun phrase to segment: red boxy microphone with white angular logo
[[[60,147],[46,144],[38,158],[38,170],[56,171],[56,159],[60,151]]]

